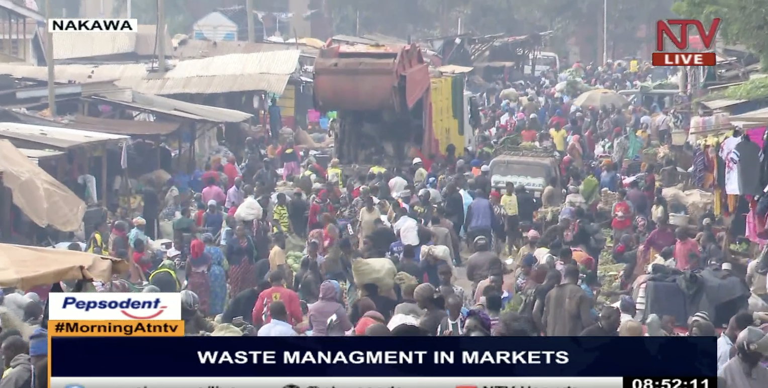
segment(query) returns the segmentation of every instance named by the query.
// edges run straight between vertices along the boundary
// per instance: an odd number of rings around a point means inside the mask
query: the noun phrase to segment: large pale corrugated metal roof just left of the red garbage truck
[[[132,87],[147,95],[230,91],[269,91],[280,95],[290,75],[298,71],[300,54],[299,50],[284,50],[179,61],[162,78],[137,81]]]

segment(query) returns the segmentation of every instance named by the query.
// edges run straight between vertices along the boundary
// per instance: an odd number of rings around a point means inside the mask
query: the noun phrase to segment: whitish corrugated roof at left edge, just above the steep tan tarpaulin
[[[71,128],[8,122],[0,123],[0,138],[31,141],[62,149],[84,144],[129,139],[128,136],[121,134],[104,134]]]

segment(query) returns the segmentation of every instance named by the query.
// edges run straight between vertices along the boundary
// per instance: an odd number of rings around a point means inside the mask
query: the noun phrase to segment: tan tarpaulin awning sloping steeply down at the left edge
[[[65,232],[80,229],[85,202],[7,140],[0,140],[0,174],[13,203],[35,224]]]

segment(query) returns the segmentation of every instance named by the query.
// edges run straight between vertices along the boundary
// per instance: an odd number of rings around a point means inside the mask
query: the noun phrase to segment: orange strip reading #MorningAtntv
[[[183,337],[183,320],[51,320],[51,337]]]

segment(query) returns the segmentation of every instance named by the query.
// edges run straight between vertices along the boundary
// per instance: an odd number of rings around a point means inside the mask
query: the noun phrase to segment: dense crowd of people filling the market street
[[[642,81],[647,71],[632,61],[611,70],[574,68],[592,85],[611,88]],[[699,230],[670,225],[660,188],[675,183],[664,174],[674,164],[658,168],[657,182],[657,166],[639,162],[654,138],[650,127],[664,143],[677,118],[666,108],[652,119],[643,108],[574,106],[572,97],[549,91],[551,81],[489,89],[476,147],[458,152],[450,144],[437,156],[413,150],[406,166],[350,172],[338,160],[319,163],[293,141],[248,138],[239,158],[208,166],[199,193],[169,182],[163,214],[174,220],[174,243],[163,257],[150,248],[141,217],[96,225],[86,249],[133,265],[130,274],[86,286],[180,292],[190,335],[232,325],[262,337],[718,336],[722,327],[703,312],[686,323],[638,318],[638,291],[650,276],[730,269],[715,217],[702,217]],[[510,88],[519,99],[501,97]],[[508,135],[558,155],[558,176],[540,193],[492,185],[493,150]],[[610,234],[597,217],[603,189],[617,198],[607,216]],[[551,207],[561,209],[553,224],[536,217]],[[604,251],[626,264],[620,287],[609,291],[614,304],[598,300]],[[290,258],[295,252],[300,259]],[[388,287],[361,281],[356,260],[382,258],[395,268]],[[768,254],[753,263],[746,281],[765,298]],[[24,297],[5,294],[6,302]],[[39,306],[34,297],[26,303]],[[718,340],[720,376],[728,386],[765,386],[768,320],[734,313]],[[25,320],[41,315],[28,316],[27,307],[19,313]],[[35,357],[45,354],[9,332],[2,343],[9,373],[37,368]],[[16,381],[4,376],[0,388],[24,387]]]

